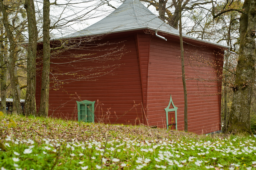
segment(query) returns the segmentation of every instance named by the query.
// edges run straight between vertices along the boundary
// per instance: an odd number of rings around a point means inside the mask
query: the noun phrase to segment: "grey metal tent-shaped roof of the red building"
[[[125,0],[122,5],[120,5],[104,19],[83,30],[62,38],[74,38],[143,29],[158,30],[163,33],[179,36],[179,31],[177,29],[169,24],[166,24],[159,17],[154,15],[139,0]],[[183,36],[189,39],[228,48],[225,45],[208,42],[202,39],[196,39],[186,34]]]

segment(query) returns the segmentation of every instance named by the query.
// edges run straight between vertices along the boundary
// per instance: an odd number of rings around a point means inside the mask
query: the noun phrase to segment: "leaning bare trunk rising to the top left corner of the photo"
[[[10,74],[10,85],[11,85],[12,94],[13,94],[13,113],[20,114],[22,110],[20,105],[19,91],[17,90],[17,85],[19,85],[19,81],[18,81],[18,77],[15,76],[15,71],[14,71],[15,61],[16,61],[16,52],[15,52],[16,43],[13,40],[13,35],[8,23],[6,9],[4,7],[2,0],[0,0],[0,9],[3,14],[2,21],[3,21],[5,31],[7,33],[7,37],[10,43],[9,74]]]

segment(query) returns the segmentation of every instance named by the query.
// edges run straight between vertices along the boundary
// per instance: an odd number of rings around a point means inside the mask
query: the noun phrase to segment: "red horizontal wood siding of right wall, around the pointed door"
[[[188,130],[209,133],[220,130],[220,83],[216,52],[184,44],[188,94]],[[219,57],[220,58],[220,57]],[[184,92],[181,79],[180,45],[170,39],[152,38],[149,55],[148,118],[150,125],[166,127],[167,107],[172,95],[178,107],[178,129],[184,129]]]

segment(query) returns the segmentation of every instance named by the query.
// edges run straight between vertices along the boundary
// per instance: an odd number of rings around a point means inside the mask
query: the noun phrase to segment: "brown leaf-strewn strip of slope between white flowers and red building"
[[[9,116],[5,116],[8,121]],[[13,135],[19,139],[32,139],[41,143],[43,138],[63,139],[71,141],[102,140],[107,132],[108,138],[130,138],[154,140],[160,138],[172,138],[173,140],[182,137],[197,137],[195,134],[188,134],[177,131],[166,131],[165,129],[150,128],[143,125],[106,125],[99,123],[85,123],[77,121],[60,120],[42,117],[11,116],[17,126],[5,129],[4,136]],[[3,137],[4,137],[3,136]],[[3,138],[2,137],[2,138]]]

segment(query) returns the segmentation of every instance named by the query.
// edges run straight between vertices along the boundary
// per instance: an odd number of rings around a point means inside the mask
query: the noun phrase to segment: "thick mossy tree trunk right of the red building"
[[[255,29],[256,1],[245,0],[240,17],[240,50],[236,68],[236,79],[233,87],[228,131],[231,133],[248,133],[251,131],[251,100],[255,84]]]

